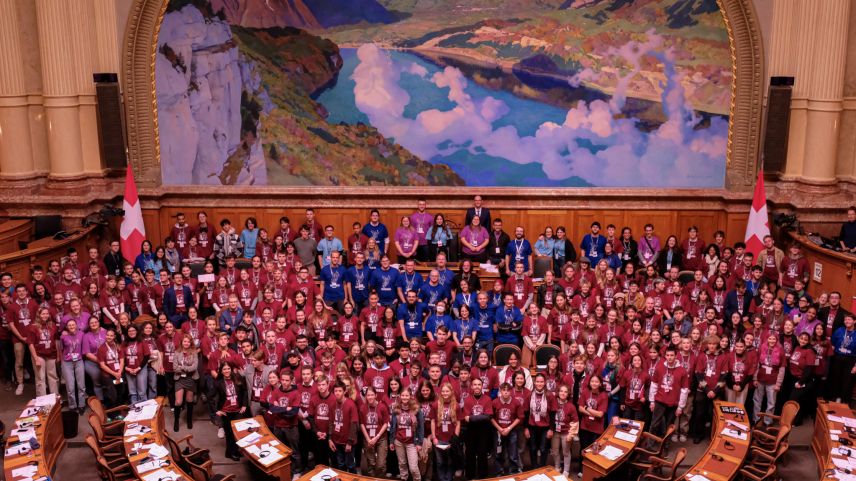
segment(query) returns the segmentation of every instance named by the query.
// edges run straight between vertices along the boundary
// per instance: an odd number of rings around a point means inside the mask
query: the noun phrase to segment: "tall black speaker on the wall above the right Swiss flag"
[[[772,77],[767,95],[767,125],[764,134],[764,173],[780,174],[788,157],[793,77]]]

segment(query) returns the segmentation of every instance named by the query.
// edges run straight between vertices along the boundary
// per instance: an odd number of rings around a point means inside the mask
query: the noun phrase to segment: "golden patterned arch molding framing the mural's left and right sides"
[[[151,188],[161,184],[154,67],[158,32],[168,1],[134,0],[125,30],[122,69],[125,82],[128,157],[141,187]],[[763,45],[752,0],[717,0],[717,3],[728,30],[732,60],[725,188],[738,192],[748,191],[754,184],[761,147]],[[295,189],[290,186],[272,188],[279,193]],[[359,189],[365,195],[372,188]],[[425,192],[434,192],[433,189],[436,188],[426,189]],[[483,190],[478,189],[479,192]],[[343,195],[343,189],[340,187],[318,186],[312,191],[315,196],[319,193]],[[457,192],[461,191],[472,195],[476,189],[457,189]],[[531,189],[528,192],[533,191],[534,189]],[[558,191],[565,192],[564,189]],[[627,191],[624,193],[626,195]]]

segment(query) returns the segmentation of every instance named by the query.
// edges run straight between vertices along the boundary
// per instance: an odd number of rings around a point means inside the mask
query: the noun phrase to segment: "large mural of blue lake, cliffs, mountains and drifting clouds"
[[[716,0],[170,0],[170,184],[721,187]]]

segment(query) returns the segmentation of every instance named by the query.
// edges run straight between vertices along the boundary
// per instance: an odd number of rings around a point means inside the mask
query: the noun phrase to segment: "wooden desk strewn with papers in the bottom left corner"
[[[38,481],[53,474],[57,458],[65,448],[62,432],[62,403],[55,394],[35,398],[6,427],[6,481]],[[34,441],[38,443],[33,446]]]

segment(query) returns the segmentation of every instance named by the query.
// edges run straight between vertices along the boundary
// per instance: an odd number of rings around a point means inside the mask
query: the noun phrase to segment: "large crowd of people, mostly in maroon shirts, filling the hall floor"
[[[453,232],[426,209],[394,232],[372,210],[344,241],[312,209],[240,233],[178,214],[132,261],[114,240],[29,282],[0,274],[8,386],[21,395],[32,375],[38,395],[59,393],[61,373],[80,412],[87,394],[108,407],[165,396],[176,431],[200,402],[235,460],[229,422],[260,414],[295,475],[330,464],[413,481],[549,459],[567,476],[615,416],[699,443],[716,399],[753,420],[797,400],[797,423],[818,397],[851,399],[854,317],[840,293],[807,293],[798,244],[768,236],[756,256],[724,232],[661,240],[650,224],[636,238],[598,222],[578,243],[561,226],[527,238],[480,197]],[[535,278],[539,260],[552,268]],[[480,263],[498,272],[486,288]],[[495,365],[507,344],[520,349]]]

